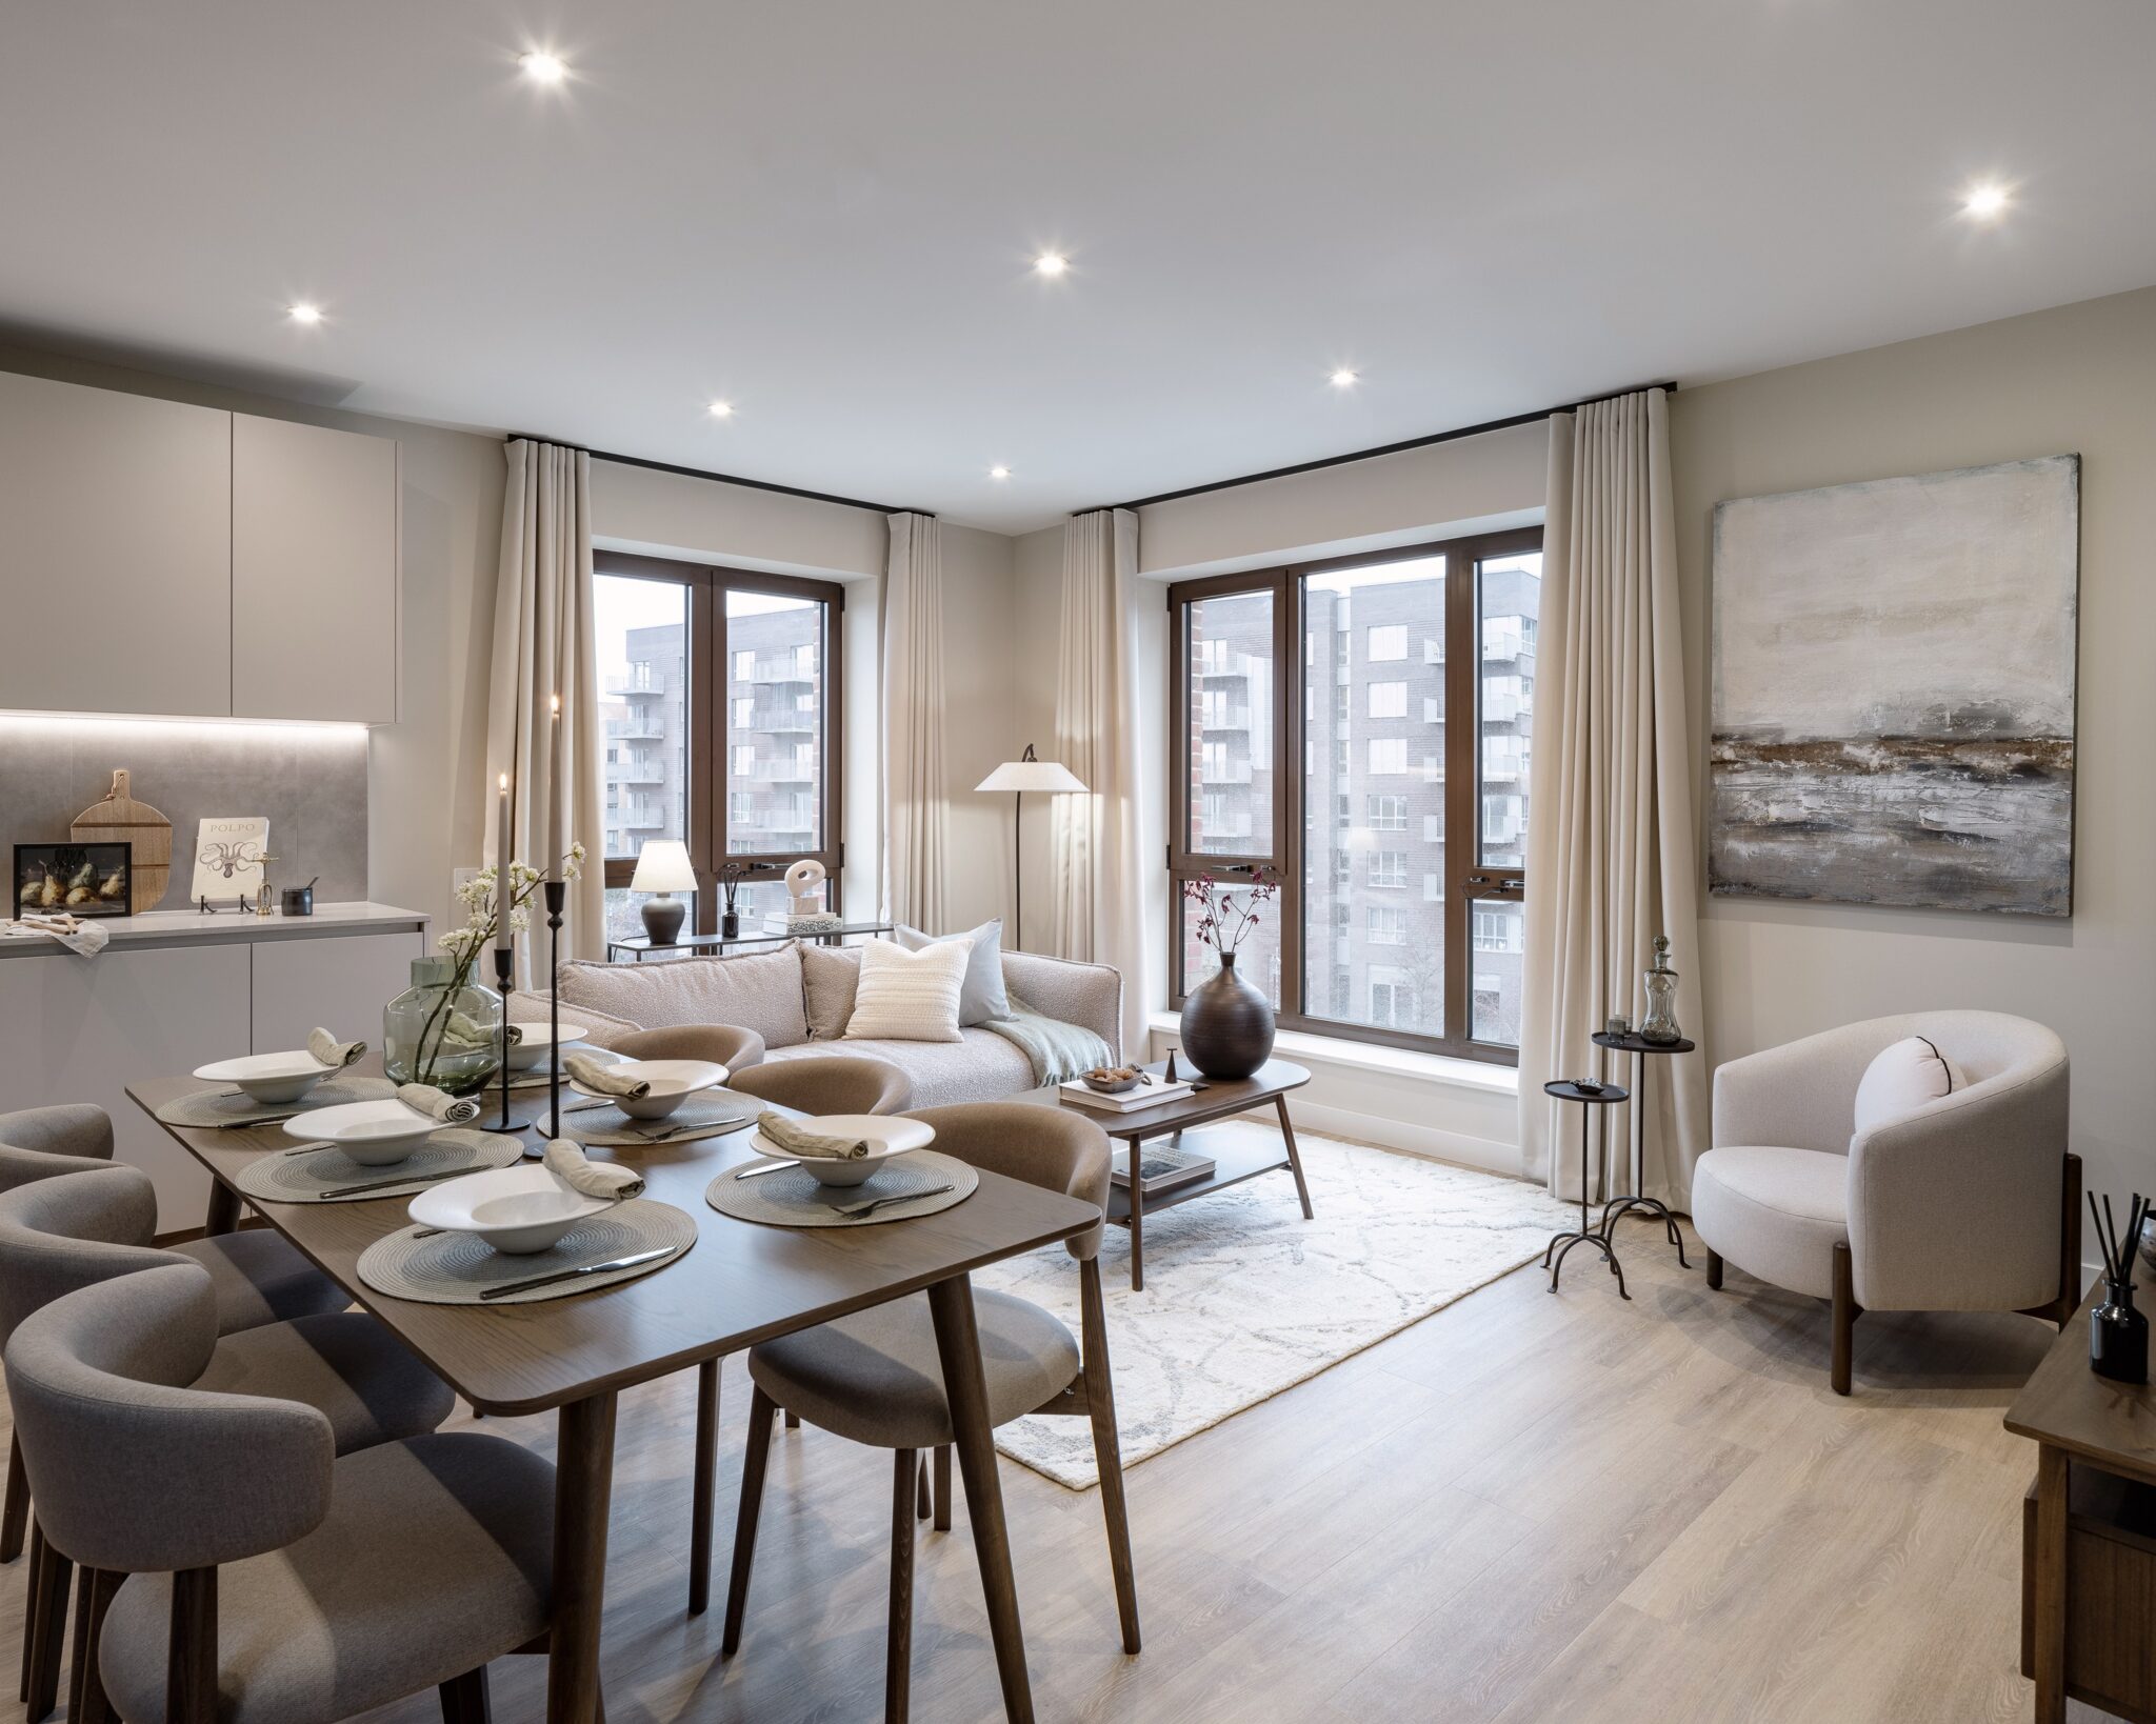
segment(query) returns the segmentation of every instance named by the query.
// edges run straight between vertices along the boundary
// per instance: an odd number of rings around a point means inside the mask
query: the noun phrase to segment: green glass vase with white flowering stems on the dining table
[[[569,845],[558,866],[558,879],[578,879],[584,847]],[[474,1095],[500,1071],[502,996],[474,978],[479,955],[505,916],[511,933],[530,927],[543,881],[539,868],[513,860],[507,890],[500,868],[481,868],[457,888],[466,924],[442,935],[440,957],[412,959],[412,987],[382,1009],[382,1062],[395,1082]]]

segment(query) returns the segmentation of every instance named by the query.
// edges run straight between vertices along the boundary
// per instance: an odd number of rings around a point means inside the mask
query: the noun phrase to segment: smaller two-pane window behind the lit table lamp
[[[783,909],[783,873],[811,856],[837,903],[839,638],[843,590],[655,556],[593,558],[610,935],[640,933],[627,886],[647,838],[681,838],[699,879],[740,862],[740,909]],[[694,927],[718,927],[716,890]]]

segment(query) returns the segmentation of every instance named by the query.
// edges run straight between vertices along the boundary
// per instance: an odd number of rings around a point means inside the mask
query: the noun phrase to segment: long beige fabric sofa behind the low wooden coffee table
[[[606,1047],[632,1030],[733,1024],[763,1037],[763,1058],[867,1054],[890,1060],[914,1086],[916,1108],[1000,1101],[1035,1088],[1026,1056],[994,1030],[957,1041],[847,1041],[860,976],[858,946],[780,946],[746,957],[677,957],[645,963],[565,963],[561,1009]],[[1015,1002],[1082,1024],[1121,1056],[1123,976],[1104,963],[1005,953],[1003,985]],[[541,1019],[543,993],[511,996],[511,1015]]]

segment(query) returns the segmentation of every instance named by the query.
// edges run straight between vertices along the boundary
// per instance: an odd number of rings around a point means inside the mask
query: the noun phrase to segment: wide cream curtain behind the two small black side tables
[[[1699,1039],[1692,752],[1669,478],[1669,397],[1593,401],[1550,418],[1548,526],[1526,838],[1526,978],[1520,1024],[1520,1157],[1578,1196],[1578,1108],[1542,1093],[1595,1075],[1589,1037],[1645,1011],[1641,972],[1669,935],[1677,1021]],[[1613,1082],[1632,1062],[1608,1056]],[[1645,1196],[1690,1207],[1708,1146],[1703,1054],[1649,1056]],[[1608,1114],[1589,1198],[1630,1187],[1632,1110]],[[1589,1146],[1602,1138],[1591,1127]]]

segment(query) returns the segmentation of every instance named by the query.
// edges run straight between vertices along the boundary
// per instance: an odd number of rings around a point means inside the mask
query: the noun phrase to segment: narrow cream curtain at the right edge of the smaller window
[[[884,914],[944,927],[942,537],[934,515],[890,517],[884,573]]]

